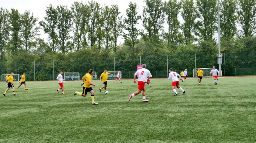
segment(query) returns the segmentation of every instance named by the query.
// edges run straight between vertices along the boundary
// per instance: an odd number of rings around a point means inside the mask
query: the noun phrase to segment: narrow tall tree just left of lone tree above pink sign
[[[119,7],[116,4],[111,5],[111,27],[113,30],[113,37],[114,37],[114,47],[113,51],[116,53],[117,50],[117,38],[121,35],[123,32],[123,21],[122,17],[123,15],[120,15],[121,12],[119,10]]]

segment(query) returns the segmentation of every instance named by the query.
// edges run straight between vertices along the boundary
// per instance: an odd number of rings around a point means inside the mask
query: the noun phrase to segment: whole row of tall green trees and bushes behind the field
[[[120,57],[123,65],[120,70],[127,71],[138,64],[132,64],[137,61],[132,57],[139,56],[145,56],[152,70],[165,69],[160,62],[165,58],[159,58],[165,55],[173,57],[175,62],[171,66],[177,68],[194,68],[195,53],[201,55],[196,57],[199,66],[217,65],[216,0],[144,0],[142,15],[138,14],[138,5],[130,2],[125,16],[116,4],[75,1],[71,7],[50,4],[45,13],[44,19],[38,21],[27,10],[19,13],[15,9],[0,9],[2,67],[19,60],[14,57],[21,53],[39,61],[40,58],[57,60],[59,55],[66,60],[72,55],[81,61]],[[221,53],[226,53],[228,71],[231,73],[235,67],[255,67],[256,0],[222,0],[220,20]],[[137,28],[140,21],[143,29]],[[48,35],[47,42],[39,38],[40,29]],[[120,36],[124,39],[122,44],[117,41]],[[9,70],[2,68],[1,73]]]

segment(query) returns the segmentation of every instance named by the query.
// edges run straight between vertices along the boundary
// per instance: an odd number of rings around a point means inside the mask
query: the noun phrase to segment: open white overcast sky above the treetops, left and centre
[[[29,10],[30,13],[33,13],[34,17],[38,17],[39,21],[44,20],[44,16],[46,16],[45,10],[46,7],[48,7],[50,4],[52,4],[55,8],[58,5],[67,5],[70,7],[75,1],[82,1],[83,3],[87,3],[87,0],[0,0],[0,7],[7,8],[8,10],[11,10],[11,8],[17,9],[19,13],[24,13],[25,10]],[[143,11],[143,0],[95,0],[99,2],[101,6],[104,4],[111,6],[112,4],[117,4],[120,8],[120,12],[123,14],[123,16],[126,16],[126,9],[129,7],[130,1],[133,3],[138,4],[138,14],[142,14]],[[162,0],[164,1],[164,0]],[[140,24],[138,24],[138,28],[142,29],[141,21]],[[40,31],[41,38],[44,38],[44,40],[47,39],[47,34],[44,34],[44,32]],[[118,44],[123,42],[122,36],[118,37]]]

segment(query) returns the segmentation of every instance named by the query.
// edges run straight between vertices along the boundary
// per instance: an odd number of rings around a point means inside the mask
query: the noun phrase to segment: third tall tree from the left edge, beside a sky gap
[[[37,21],[38,18],[34,17],[33,14],[30,15],[27,10],[21,15],[22,44],[26,51],[33,50],[36,47],[36,38],[39,35]]]

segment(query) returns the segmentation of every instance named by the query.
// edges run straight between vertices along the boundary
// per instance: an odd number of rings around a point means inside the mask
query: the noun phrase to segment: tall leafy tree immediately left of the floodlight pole
[[[215,41],[214,33],[217,30],[218,6],[216,0],[197,0],[196,13],[198,20],[196,21],[195,34],[201,40]]]

